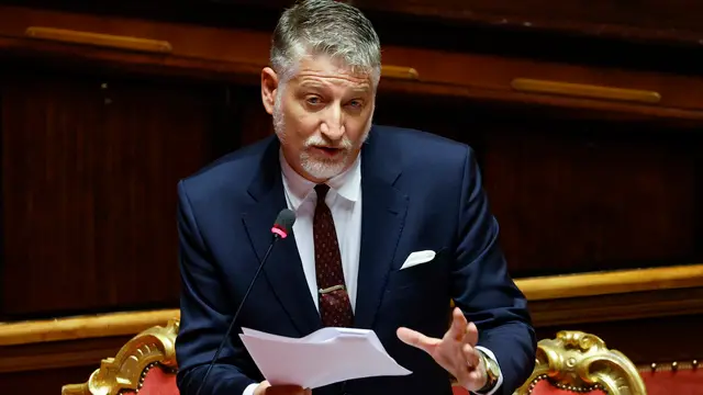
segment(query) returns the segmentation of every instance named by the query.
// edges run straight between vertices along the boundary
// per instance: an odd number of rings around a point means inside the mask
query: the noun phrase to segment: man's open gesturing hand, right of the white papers
[[[455,307],[451,316],[451,326],[442,339],[431,338],[409,328],[399,328],[398,338],[428,353],[459,385],[468,391],[478,391],[488,380],[486,366],[476,349],[478,328],[473,323],[467,321],[458,307]]]

